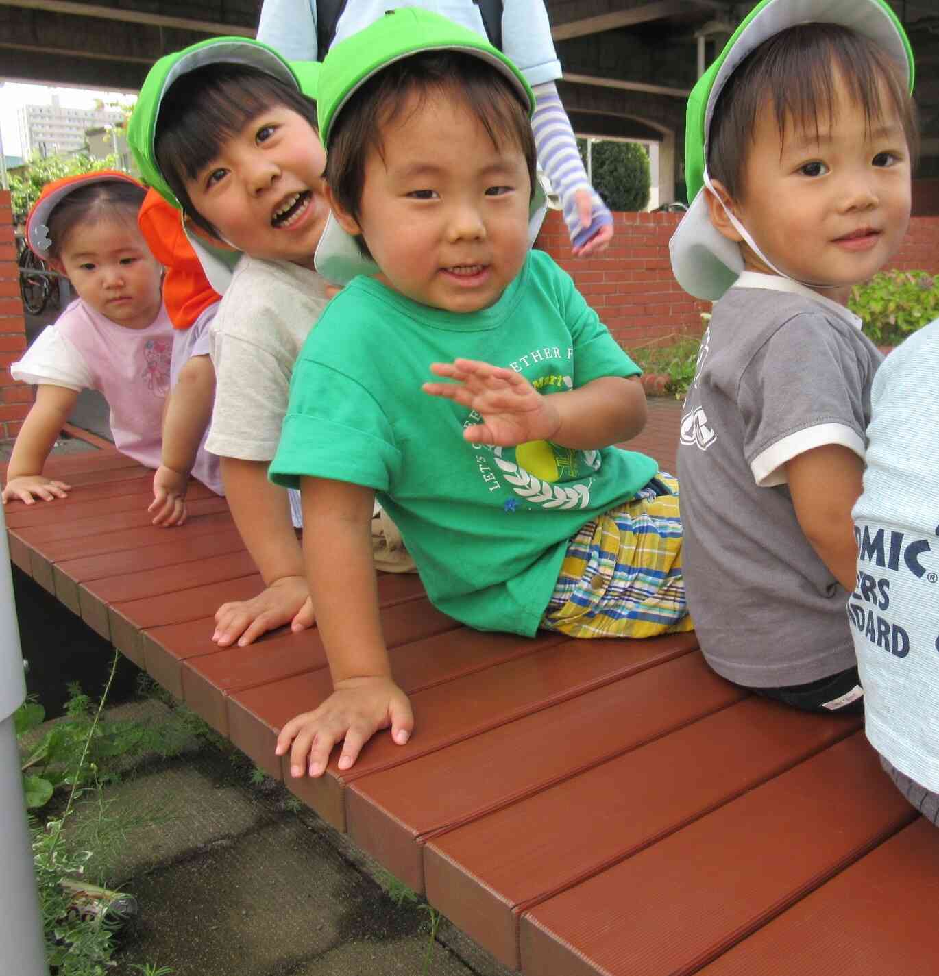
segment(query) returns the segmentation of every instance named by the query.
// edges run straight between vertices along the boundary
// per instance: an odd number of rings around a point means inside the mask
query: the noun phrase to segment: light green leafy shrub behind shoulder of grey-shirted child
[[[864,322],[877,346],[899,346],[911,333],[939,318],[939,275],[925,271],[880,271],[851,290],[848,307]]]

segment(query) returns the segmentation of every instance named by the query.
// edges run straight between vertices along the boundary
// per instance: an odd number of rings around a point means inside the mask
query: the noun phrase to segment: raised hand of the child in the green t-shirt
[[[463,429],[463,436],[473,444],[515,447],[531,440],[550,440],[561,427],[551,397],[542,396],[513,369],[476,359],[431,363],[430,368],[435,376],[453,382],[425,383],[425,393],[455,400],[483,418],[481,424]]]

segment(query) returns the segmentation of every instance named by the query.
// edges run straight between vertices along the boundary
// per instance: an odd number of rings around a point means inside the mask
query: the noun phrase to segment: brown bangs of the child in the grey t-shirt
[[[912,100],[893,62],[866,37],[835,24],[802,24],[768,41],[766,49],[763,90],[771,93],[782,134],[794,124],[818,137],[820,126],[834,121],[840,80],[864,113],[868,132],[896,117],[915,151]]]

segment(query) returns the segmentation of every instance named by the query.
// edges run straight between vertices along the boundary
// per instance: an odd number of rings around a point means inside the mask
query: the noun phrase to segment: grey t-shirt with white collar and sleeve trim
[[[804,684],[855,663],[848,594],[802,534],[785,466],[832,443],[864,457],[882,358],[856,316],[784,278],[745,272],[714,307],[678,474],[688,606],[732,681]]]

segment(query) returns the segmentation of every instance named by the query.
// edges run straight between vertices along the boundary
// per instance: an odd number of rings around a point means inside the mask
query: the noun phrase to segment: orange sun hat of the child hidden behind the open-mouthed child
[[[166,268],[163,303],[174,329],[188,329],[221,299],[213,291],[183,228],[183,215],[155,189],[149,189],[137,224],[153,257]]]

